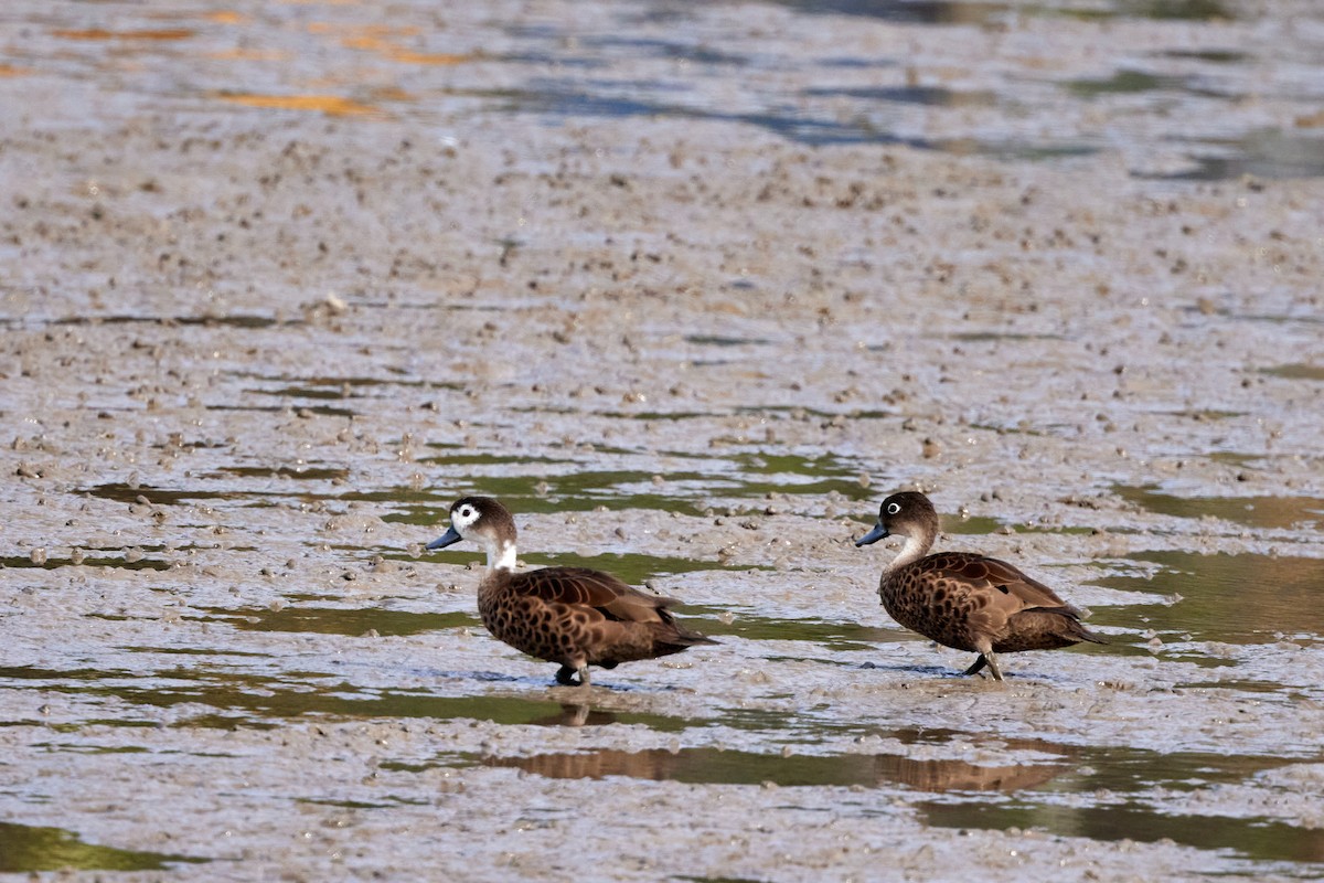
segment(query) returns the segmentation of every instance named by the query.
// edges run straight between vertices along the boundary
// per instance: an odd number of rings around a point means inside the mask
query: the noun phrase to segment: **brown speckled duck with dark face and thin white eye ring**
[[[883,608],[925,638],[980,654],[965,674],[988,666],[1001,680],[996,653],[1106,643],[1080,625],[1076,608],[1006,561],[972,552],[925,555],[937,539],[937,512],[923,494],[903,491],[884,499],[878,524],[855,545],[892,535],[904,536],[906,545],[879,580]]]

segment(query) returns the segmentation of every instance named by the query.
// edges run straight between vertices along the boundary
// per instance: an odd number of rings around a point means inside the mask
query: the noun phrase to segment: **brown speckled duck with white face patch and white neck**
[[[445,548],[474,540],[487,551],[478,584],[478,614],[500,641],[539,659],[560,663],[556,680],[589,686],[588,667],[654,659],[696,643],[716,643],[677,625],[675,598],[645,594],[610,573],[544,567],[515,573],[515,519],[490,496],[466,496],[450,507],[450,530],[428,544]]]

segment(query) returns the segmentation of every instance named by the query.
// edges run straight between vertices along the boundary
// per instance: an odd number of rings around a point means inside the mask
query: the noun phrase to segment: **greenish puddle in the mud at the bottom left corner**
[[[172,864],[200,864],[208,858],[140,853],[83,843],[62,827],[0,822],[0,874],[41,871],[168,871]]]

